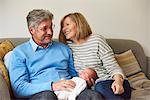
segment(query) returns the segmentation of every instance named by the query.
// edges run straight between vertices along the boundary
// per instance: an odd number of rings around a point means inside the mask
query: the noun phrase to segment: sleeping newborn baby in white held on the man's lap
[[[76,97],[87,87],[86,76],[93,78],[94,81],[98,78],[97,73],[92,68],[86,68],[79,72],[79,77],[73,77],[71,80],[76,83],[76,86],[71,91],[55,91],[58,100],[76,100]],[[92,86],[92,85],[88,85]]]

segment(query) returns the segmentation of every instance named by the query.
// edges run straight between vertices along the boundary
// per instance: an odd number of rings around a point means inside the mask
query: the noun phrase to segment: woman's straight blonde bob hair
[[[77,40],[85,39],[88,36],[90,36],[90,34],[92,34],[90,25],[88,24],[87,20],[81,13],[78,13],[78,12],[70,13],[64,16],[60,22],[60,33],[59,33],[60,42],[63,42],[65,44],[67,42],[67,39],[62,31],[64,20],[67,17],[71,18],[71,20],[76,24],[76,27],[77,27],[76,39]]]

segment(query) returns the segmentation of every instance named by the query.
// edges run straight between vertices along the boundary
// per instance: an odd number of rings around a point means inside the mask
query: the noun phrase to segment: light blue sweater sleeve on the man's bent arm
[[[21,98],[30,97],[41,91],[52,90],[51,81],[40,84],[30,83],[30,76],[25,62],[23,55],[13,51],[8,70],[15,96]]]

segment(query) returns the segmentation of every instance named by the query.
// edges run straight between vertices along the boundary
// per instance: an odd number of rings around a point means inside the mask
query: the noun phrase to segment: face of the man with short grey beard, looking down
[[[29,31],[38,45],[47,46],[52,41],[53,23],[51,20],[44,20],[37,28],[30,28]]]

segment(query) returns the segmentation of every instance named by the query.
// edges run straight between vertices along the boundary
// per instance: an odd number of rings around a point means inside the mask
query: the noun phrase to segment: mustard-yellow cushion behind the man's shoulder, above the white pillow
[[[9,40],[4,40],[0,43],[0,59],[3,60],[5,54],[14,48]]]

